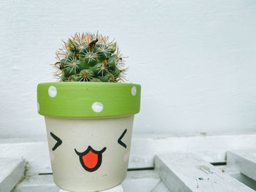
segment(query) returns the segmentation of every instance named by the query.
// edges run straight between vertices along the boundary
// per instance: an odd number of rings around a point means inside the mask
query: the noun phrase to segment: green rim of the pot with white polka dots
[[[45,82],[37,85],[40,115],[100,118],[140,112],[140,85],[118,82]]]

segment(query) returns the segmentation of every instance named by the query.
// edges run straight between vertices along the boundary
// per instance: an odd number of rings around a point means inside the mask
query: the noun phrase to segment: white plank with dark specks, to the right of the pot
[[[157,155],[155,165],[170,191],[253,192],[251,188],[192,154]]]

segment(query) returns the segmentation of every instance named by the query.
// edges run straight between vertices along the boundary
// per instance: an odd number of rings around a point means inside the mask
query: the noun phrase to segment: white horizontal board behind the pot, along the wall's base
[[[37,141],[38,140],[38,141]],[[212,135],[195,137],[134,135],[129,168],[154,167],[154,155],[160,153],[195,153],[208,162],[225,162],[227,150],[252,149],[256,134]],[[50,173],[46,139],[0,139],[0,154],[6,158],[29,161],[27,175]]]

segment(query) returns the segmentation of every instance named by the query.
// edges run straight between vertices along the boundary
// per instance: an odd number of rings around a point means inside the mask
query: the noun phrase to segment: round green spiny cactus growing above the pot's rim
[[[124,82],[127,68],[116,42],[99,34],[75,34],[56,53],[56,77],[67,82]]]

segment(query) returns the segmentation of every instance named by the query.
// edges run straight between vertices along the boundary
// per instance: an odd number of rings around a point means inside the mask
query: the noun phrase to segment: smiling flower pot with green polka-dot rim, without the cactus
[[[127,174],[140,85],[49,82],[37,86],[53,180],[66,191],[103,191]]]

